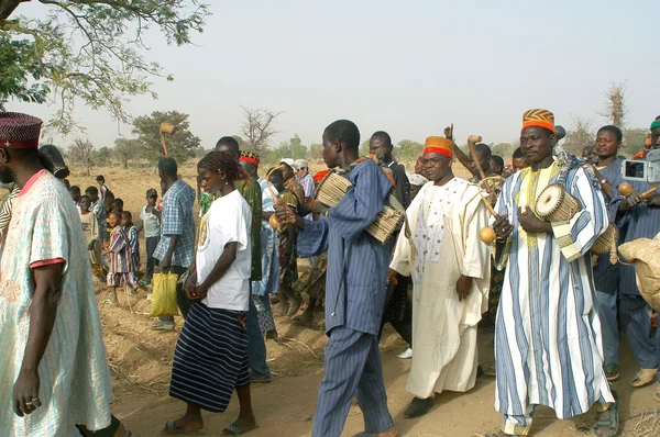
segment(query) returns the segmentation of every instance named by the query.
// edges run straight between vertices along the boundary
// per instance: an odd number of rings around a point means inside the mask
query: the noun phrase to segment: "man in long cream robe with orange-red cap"
[[[426,183],[408,208],[413,245],[399,235],[391,264],[413,276],[413,367],[407,390],[415,395],[405,417],[426,414],[433,393],[474,386],[476,324],[487,309],[490,254],[479,239],[487,210],[476,186],[451,170],[453,143],[429,137]]]

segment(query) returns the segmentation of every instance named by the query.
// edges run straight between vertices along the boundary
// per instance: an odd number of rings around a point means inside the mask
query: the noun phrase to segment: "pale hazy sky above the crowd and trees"
[[[385,130],[395,142],[422,142],[453,122],[460,141],[510,142],[530,108],[551,110],[564,126],[572,115],[600,126],[612,81],[627,81],[630,126],[648,127],[660,114],[658,0],[209,2],[213,15],[194,36],[197,46],[151,38],[146,58],[175,81],[156,80],[158,100],[128,105],[133,115],[190,114],[206,148],[240,134],[240,105],[286,111],[275,144],[296,133],[319,143],[337,119],[354,121],[363,139]],[[78,105],[76,116],[99,147],[120,135],[105,112]]]

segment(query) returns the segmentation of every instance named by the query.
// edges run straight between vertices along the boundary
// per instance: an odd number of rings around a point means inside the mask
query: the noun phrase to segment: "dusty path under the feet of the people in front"
[[[438,395],[433,410],[425,417],[403,418],[403,411],[410,401],[405,390],[410,361],[396,358],[396,352],[402,347],[396,335],[392,335],[382,352],[389,411],[400,436],[475,437],[498,428],[501,416],[493,408],[495,383],[493,379],[487,378],[479,380],[476,386],[469,393]],[[484,350],[482,356],[486,361],[490,336],[482,335],[481,343]],[[272,345],[273,341],[270,341],[268,346]],[[624,355],[627,354],[627,350],[624,350]],[[299,355],[299,357],[304,356]],[[651,397],[650,388],[637,391],[629,389],[627,381],[628,376],[632,373],[634,363],[628,359],[624,365],[624,377],[617,382],[622,397],[622,429],[624,429],[622,435],[644,435],[631,432],[640,419],[639,415],[653,413],[660,404]],[[271,384],[253,385],[253,407],[260,428],[250,433],[250,436],[309,435],[322,367],[320,363],[308,366],[304,373],[277,378]],[[183,413],[184,404],[167,396],[127,395],[118,400],[113,411],[135,436],[157,436],[167,419],[176,418]],[[207,435],[218,435],[237,414],[235,399],[224,414],[205,414]],[[535,419],[534,435],[539,437],[591,435],[592,419],[593,413],[588,413],[571,421],[557,421],[551,410],[540,408]],[[342,435],[352,436],[361,430],[363,430],[362,414],[359,407],[351,407]]]

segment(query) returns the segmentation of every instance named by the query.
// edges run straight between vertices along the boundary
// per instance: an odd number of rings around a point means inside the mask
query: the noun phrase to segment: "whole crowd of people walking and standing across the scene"
[[[397,435],[378,351],[386,323],[408,345],[399,357],[411,359],[406,418],[428,414],[436,394],[466,392],[490,374],[504,416],[492,436],[529,435],[538,405],[558,418],[594,411],[594,434],[615,436],[620,333],[640,367],[630,384],[656,382],[660,402],[660,330],[635,268],[592,253],[613,224],[619,244],[660,235],[660,193],[642,181],[618,191],[625,158],[616,126],[603,126],[573,157],[554,115],[527,111],[510,164],[476,136],[463,153],[446,128],[426,139],[414,172],[396,161],[384,131],[361,157],[360,132],[346,120],[324,130],[328,169],[315,175],[288,158],[264,171],[256,154],[224,136],[197,164],[197,189],[179,178],[175,159],[158,160],[162,200],[147,190],[136,225],[102,176],[81,195],[46,170],[40,128],[30,115],[0,114],[0,182],[9,188],[0,211],[0,423],[9,435],[130,435],[110,414],[92,269],[112,303],[118,287],[148,285],[155,271],[179,278],[184,324],[169,394],[186,410],[166,434],[204,433],[201,411],[226,411],[234,391],[239,416],[221,435],[257,427],[250,388],[272,381],[264,338],[278,338],[273,307],[311,326],[324,306],[315,437],[340,436],[353,402],[364,416],[360,436]],[[660,117],[634,158],[657,148]],[[454,175],[458,164],[470,179]],[[350,188],[330,205],[318,194],[332,176]],[[541,218],[538,199],[553,184],[578,204],[565,220]],[[372,227],[385,208],[405,220],[383,244]],[[486,244],[488,226],[495,239]],[[309,269],[298,270],[301,258]],[[492,368],[477,354],[477,327],[487,323]],[[152,329],[174,333],[175,318],[160,317]]]

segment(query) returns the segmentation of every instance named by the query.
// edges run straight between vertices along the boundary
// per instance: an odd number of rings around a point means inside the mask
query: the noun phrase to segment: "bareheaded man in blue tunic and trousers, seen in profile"
[[[322,155],[329,168],[349,169],[353,184],[328,211],[328,218],[314,222],[296,217],[298,253],[319,256],[328,250],[326,280],[326,374],[319,388],[314,437],[339,437],[355,394],[364,414],[364,436],[394,437],[387,410],[378,329],[383,315],[389,244],[381,244],[365,229],[393,189],[371,159],[359,159],[360,132],[340,120],[323,132]],[[358,163],[358,164],[356,164]],[[287,215],[276,206],[277,216]]]

